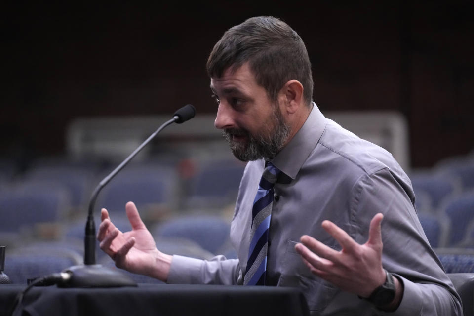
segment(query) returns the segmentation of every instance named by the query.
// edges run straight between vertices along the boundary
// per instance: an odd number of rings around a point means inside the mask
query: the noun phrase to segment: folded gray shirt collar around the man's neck
[[[313,108],[306,122],[276,155],[272,163],[290,178],[295,179],[301,166],[315,149],[326,128],[326,118],[313,102]]]

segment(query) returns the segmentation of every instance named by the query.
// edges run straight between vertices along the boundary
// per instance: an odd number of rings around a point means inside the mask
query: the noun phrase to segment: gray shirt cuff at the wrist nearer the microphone
[[[203,260],[173,255],[169,268],[168,284],[199,284]]]

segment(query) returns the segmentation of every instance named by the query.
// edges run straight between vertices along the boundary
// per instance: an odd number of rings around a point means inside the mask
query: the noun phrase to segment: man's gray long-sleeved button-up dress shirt
[[[292,181],[274,188],[267,284],[300,288],[312,315],[462,315],[459,295],[418,221],[410,180],[389,152],[326,119],[313,104],[303,127],[272,162]],[[263,160],[248,162],[240,183],[231,225],[238,260],[175,255],[168,283],[241,284],[252,204],[263,169]],[[378,212],[384,214],[383,267],[404,286],[400,306],[392,313],[313,275],[294,249],[306,234],[340,250],[338,242],[321,228],[323,220],[365,243],[370,221]]]

